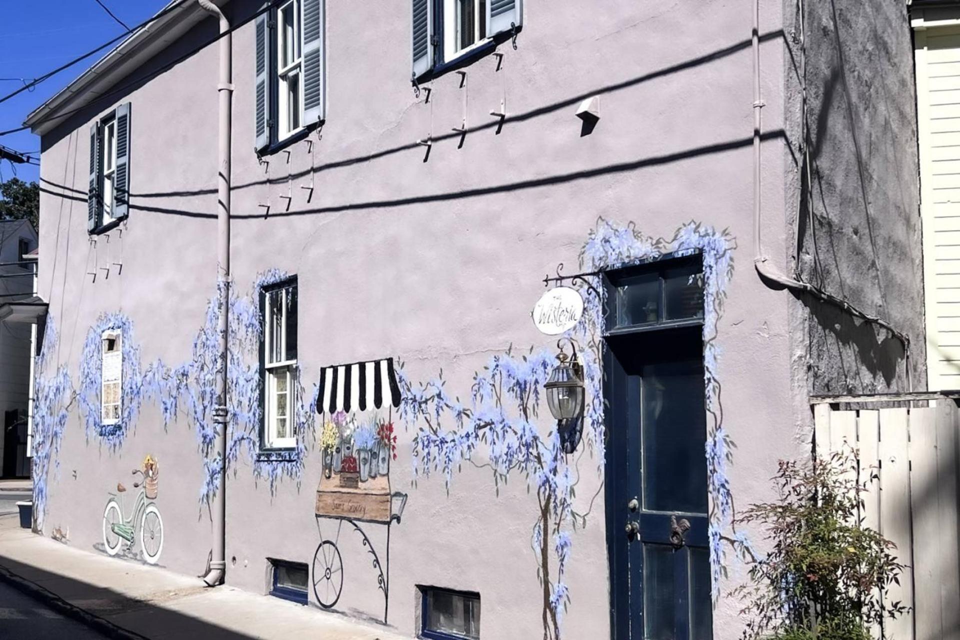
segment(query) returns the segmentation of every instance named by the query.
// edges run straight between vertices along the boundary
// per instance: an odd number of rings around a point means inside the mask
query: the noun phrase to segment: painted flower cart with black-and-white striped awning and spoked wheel
[[[387,397],[389,395],[389,398]],[[393,424],[358,423],[350,412],[380,409],[383,400],[389,407],[400,404],[399,388],[392,358],[339,365],[321,369],[317,412],[331,416],[324,423],[321,446],[324,472],[317,486],[317,532],[320,544],[313,556],[312,581],[317,602],[331,608],[340,600],[344,587],[344,561],[340,553],[340,533],[347,522],[360,533],[362,544],[372,555],[377,586],[383,591],[383,621],[387,622],[390,595],[390,528],[400,522],[407,495],[392,491],[390,462],[396,458]],[[333,529],[332,537],[324,528]],[[380,561],[365,526],[386,527],[386,544]]]

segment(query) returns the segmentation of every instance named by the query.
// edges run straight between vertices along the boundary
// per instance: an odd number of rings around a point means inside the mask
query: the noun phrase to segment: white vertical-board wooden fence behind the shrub
[[[889,597],[909,611],[872,629],[877,639],[960,640],[957,416],[946,399],[935,408],[815,407],[817,454],[854,452],[869,486],[860,522],[894,542],[905,565]]]

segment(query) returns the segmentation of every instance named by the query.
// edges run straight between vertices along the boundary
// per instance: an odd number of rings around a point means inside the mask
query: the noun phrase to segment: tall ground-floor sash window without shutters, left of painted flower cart
[[[297,387],[297,284],[264,292],[264,432],[270,448],[297,445],[294,435]]]

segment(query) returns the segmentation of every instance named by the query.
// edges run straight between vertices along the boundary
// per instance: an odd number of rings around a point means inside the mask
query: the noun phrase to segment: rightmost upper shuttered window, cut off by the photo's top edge
[[[413,0],[414,80],[522,26],[522,0]]]

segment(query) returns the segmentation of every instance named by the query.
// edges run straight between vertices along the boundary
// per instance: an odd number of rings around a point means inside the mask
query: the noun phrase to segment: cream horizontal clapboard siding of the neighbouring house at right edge
[[[915,32],[931,391],[960,389],[960,28]]]

